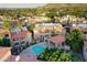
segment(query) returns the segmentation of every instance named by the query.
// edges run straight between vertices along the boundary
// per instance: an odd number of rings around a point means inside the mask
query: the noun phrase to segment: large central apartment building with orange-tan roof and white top
[[[58,23],[37,23],[34,29],[34,39],[43,40],[51,37],[53,32],[62,34],[64,28]]]

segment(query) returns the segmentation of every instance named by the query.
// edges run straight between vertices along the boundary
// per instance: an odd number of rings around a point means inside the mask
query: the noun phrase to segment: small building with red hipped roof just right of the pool
[[[47,40],[47,42],[48,42],[48,44],[51,44],[53,47],[59,47],[59,48],[69,51],[69,50],[70,50],[70,46],[66,45],[65,39],[66,39],[65,35],[59,34],[59,35],[50,37],[50,39]]]

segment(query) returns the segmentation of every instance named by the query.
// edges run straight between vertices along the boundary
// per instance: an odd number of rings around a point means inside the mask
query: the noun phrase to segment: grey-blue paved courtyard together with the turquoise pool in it
[[[48,43],[41,42],[24,50],[22,53],[20,53],[20,56],[37,57],[37,54],[42,53],[46,47],[48,47]]]

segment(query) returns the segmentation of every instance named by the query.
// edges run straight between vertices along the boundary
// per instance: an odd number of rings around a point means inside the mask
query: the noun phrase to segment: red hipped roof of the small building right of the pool
[[[65,42],[65,35],[56,35],[48,39],[54,44],[62,44],[62,42]]]

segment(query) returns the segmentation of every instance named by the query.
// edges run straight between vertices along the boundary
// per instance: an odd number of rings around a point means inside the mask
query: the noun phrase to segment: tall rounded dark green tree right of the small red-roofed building
[[[72,30],[66,34],[66,44],[70,45],[74,52],[80,52],[83,50],[84,34],[80,30]]]

